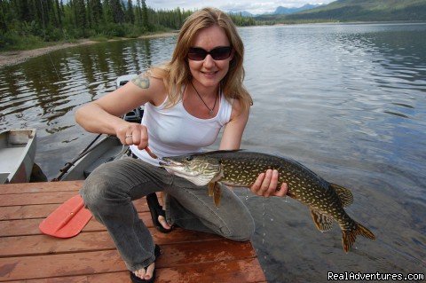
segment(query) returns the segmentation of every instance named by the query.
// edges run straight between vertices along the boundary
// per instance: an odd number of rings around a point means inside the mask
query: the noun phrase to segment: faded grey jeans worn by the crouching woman
[[[168,195],[165,208],[169,224],[241,241],[249,240],[255,231],[248,208],[225,186],[216,207],[207,186],[193,185],[165,169],[130,157],[108,162],[91,173],[80,194],[93,216],[106,226],[130,271],[155,260],[154,240],[138,218],[132,200],[161,191]]]

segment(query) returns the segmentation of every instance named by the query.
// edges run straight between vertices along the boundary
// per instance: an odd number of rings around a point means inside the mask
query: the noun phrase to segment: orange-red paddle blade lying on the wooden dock
[[[75,195],[56,208],[38,227],[44,234],[71,238],[81,232],[89,220],[91,212],[84,208],[82,197]]]

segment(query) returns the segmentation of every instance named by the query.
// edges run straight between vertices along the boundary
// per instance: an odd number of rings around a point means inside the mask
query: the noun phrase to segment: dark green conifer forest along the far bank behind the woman
[[[0,0],[0,51],[177,30],[192,12],[154,10],[145,0]],[[237,26],[255,25],[252,18],[231,17]]]

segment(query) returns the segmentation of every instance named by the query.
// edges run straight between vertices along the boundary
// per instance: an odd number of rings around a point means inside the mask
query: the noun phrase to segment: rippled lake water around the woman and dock
[[[241,28],[254,106],[243,148],[279,153],[351,188],[346,211],[375,233],[343,252],[291,199],[238,191],[271,282],[324,282],[327,272],[426,271],[426,23]],[[93,134],[77,106],[118,75],[170,59],[176,37],[99,43],[0,68],[0,130],[37,129],[36,162],[55,177]],[[218,143],[217,143],[218,145]],[[212,147],[214,148],[214,147]]]

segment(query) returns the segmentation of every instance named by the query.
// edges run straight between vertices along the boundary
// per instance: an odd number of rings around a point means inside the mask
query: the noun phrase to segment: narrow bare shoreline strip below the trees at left
[[[141,36],[138,36],[137,38],[123,37],[121,39],[110,39],[110,40],[107,40],[106,42],[114,42],[119,40],[130,40],[130,39],[158,38],[158,37],[167,37],[167,36],[173,36],[173,35],[177,35],[177,32],[167,32],[167,33],[160,33],[160,34],[153,34],[153,35],[141,35]],[[79,40],[77,43],[59,43],[57,45],[51,45],[51,46],[46,46],[46,47],[27,50],[27,51],[4,51],[4,52],[0,52],[0,67],[18,65],[20,63],[27,61],[28,59],[47,54],[51,51],[57,51],[57,50],[65,49],[68,47],[75,47],[75,46],[81,46],[81,45],[91,45],[96,43],[104,43],[104,42],[92,41],[90,39],[82,39],[82,40]]]

